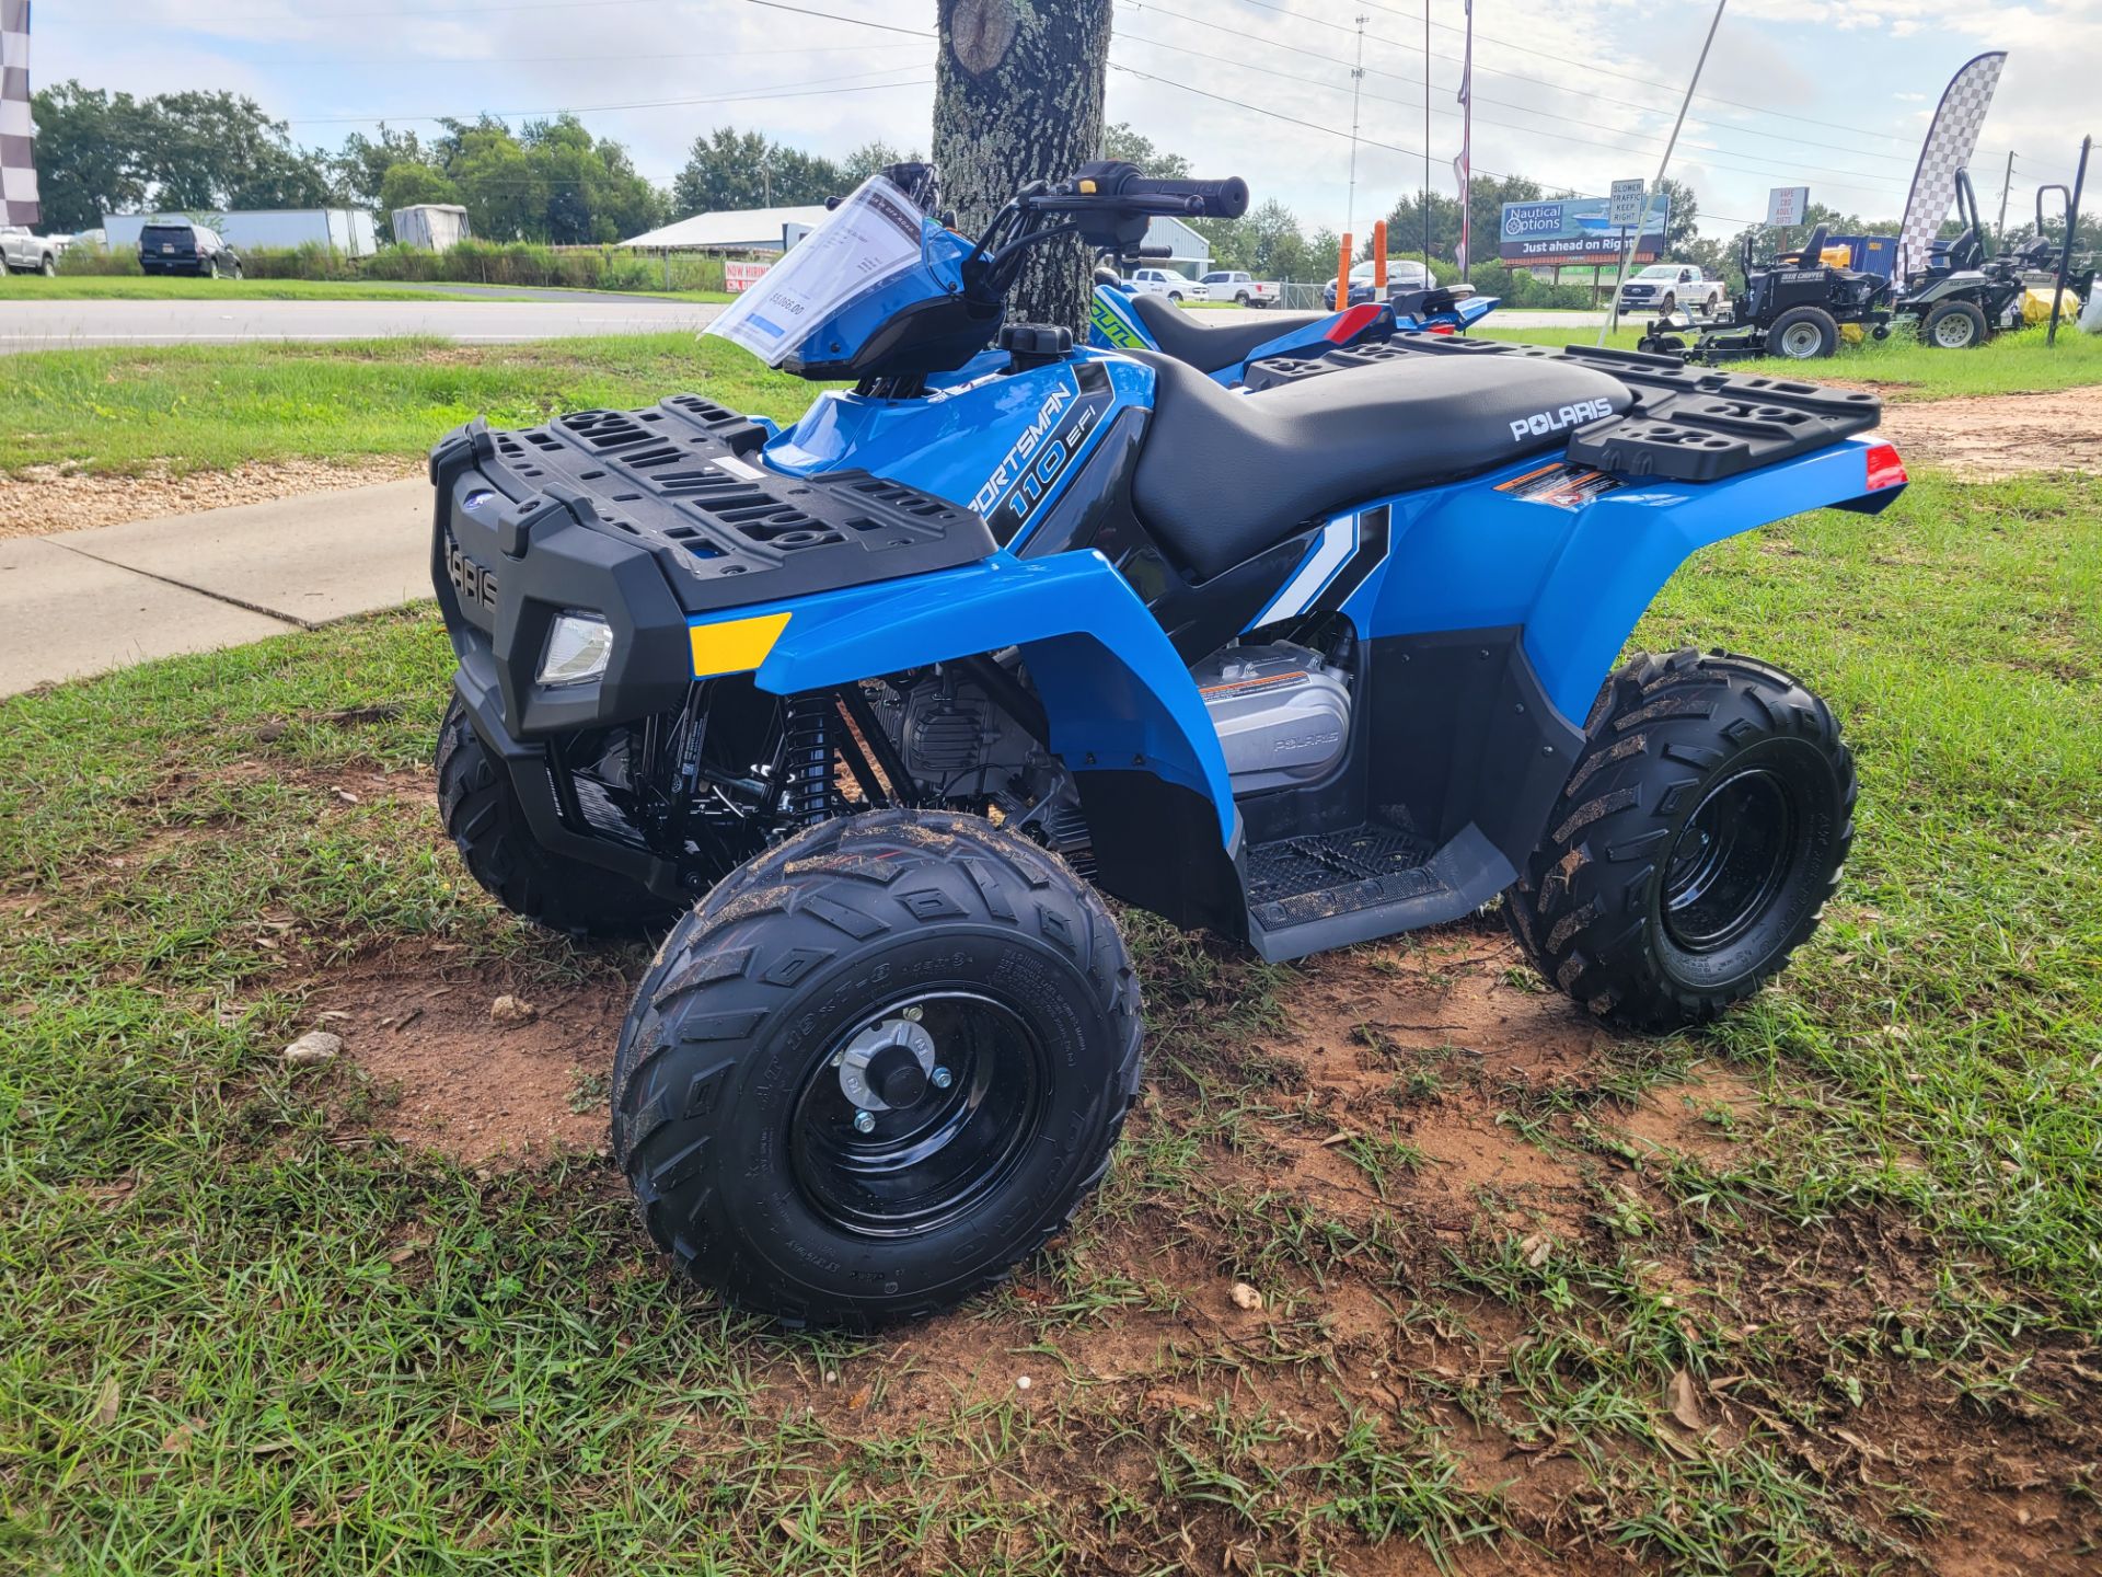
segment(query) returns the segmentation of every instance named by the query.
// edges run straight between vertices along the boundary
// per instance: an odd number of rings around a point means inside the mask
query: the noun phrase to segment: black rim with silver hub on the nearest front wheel
[[[921,1087],[891,1106],[872,1070],[898,1077],[906,1062]],[[856,1020],[805,1081],[788,1119],[797,1184],[841,1230],[935,1230],[1013,1175],[1047,1093],[1043,1045],[1011,1007],[980,992],[904,997]]]

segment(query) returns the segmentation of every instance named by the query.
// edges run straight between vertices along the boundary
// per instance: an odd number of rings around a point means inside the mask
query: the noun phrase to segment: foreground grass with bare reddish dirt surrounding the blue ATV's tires
[[[643,961],[460,873],[429,610],[4,702],[0,1552],[2094,1571],[2098,526],[2098,479],[1930,477],[1671,582],[1642,643],[1808,675],[1862,770],[1825,931],[1717,1035],[1593,1032],[1492,919],[1282,969],[1131,917],[1150,1079],[1106,1188],[874,1342],[671,1285],[589,1150],[395,1138],[433,1085],[515,1098],[492,992],[559,1028]],[[286,1070],[313,1026],[351,1060]],[[441,1030],[452,1066],[378,1060]],[[557,1056],[589,1129],[610,1030]]]

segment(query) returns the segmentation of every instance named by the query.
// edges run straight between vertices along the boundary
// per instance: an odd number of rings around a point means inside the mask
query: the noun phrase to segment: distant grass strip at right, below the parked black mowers
[[[1595,328],[1497,328],[1490,315],[1482,339],[1516,339],[1532,345],[1591,345]],[[1616,328],[1608,345],[1635,349],[1642,328]],[[1768,376],[1846,378],[1883,385],[1888,400],[1951,400],[1957,395],[2039,393],[2102,383],[2102,334],[2083,334],[2060,324],[2058,345],[2043,343],[2041,328],[2001,334],[1974,351],[1936,351],[1917,339],[1892,332],[1888,341],[1841,345],[1825,362],[1782,362],[1757,357],[1724,362],[1724,372],[1764,372]]]

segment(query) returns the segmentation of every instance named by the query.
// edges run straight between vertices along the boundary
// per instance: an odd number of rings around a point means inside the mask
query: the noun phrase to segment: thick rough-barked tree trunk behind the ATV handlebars
[[[1101,158],[1110,0],[940,0],[933,160],[956,229],[977,235],[1030,181],[1064,181]],[[1087,248],[1045,242],[1022,271],[1009,315],[1087,322]]]

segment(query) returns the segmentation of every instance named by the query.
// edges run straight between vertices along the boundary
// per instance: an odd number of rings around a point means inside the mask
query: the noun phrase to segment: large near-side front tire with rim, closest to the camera
[[[689,1278],[870,1329],[1005,1281],[1110,1165],[1139,986],[1101,900],[975,816],[824,822],[666,938],[614,1154]]]

